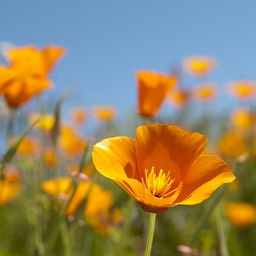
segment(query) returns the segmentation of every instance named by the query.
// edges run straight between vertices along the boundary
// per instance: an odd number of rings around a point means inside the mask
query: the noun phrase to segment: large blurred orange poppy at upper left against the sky
[[[51,87],[47,75],[64,53],[65,49],[57,46],[42,50],[35,46],[11,49],[9,66],[0,66],[0,94],[5,96],[8,105],[19,107]]]

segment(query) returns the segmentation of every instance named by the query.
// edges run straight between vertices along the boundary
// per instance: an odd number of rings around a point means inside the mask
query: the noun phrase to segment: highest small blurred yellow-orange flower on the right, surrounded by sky
[[[183,61],[184,69],[194,76],[205,76],[216,66],[216,60],[206,56],[191,56]]]

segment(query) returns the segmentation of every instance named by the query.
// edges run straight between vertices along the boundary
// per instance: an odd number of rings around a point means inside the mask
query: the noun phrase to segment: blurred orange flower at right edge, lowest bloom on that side
[[[231,223],[240,228],[248,227],[256,221],[256,207],[248,203],[228,203],[225,212]]]

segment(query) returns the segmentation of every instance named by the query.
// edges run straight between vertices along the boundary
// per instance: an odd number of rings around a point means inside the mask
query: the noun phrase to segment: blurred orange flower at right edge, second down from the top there
[[[247,108],[237,108],[231,113],[231,122],[238,128],[250,129],[255,123],[256,116]]]

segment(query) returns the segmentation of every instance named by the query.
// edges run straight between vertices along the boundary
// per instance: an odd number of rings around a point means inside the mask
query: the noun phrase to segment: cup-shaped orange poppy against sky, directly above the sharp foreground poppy
[[[167,95],[176,85],[177,79],[150,71],[137,72],[136,79],[139,113],[146,117],[156,116]]]

